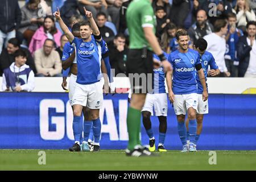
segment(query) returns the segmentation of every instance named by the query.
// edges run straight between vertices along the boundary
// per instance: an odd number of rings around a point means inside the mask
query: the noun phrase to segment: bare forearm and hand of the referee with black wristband
[[[162,66],[164,68],[164,71],[170,71],[172,69],[171,63],[167,61],[167,58],[164,56],[162,49],[159,46],[158,40],[156,39],[156,36],[154,34],[152,27],[143,27],[143,31],[145,34],[145,38],[147,39],[147,42],[152,47],[153,51],[158,55],[160,58],[160,61],[162,62]]]

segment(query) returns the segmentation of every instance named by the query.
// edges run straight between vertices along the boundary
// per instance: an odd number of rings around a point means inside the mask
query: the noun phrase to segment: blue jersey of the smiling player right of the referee
[[[174,68],[172,80],[174,94],[197,93],[195,66],[201,64],[199,53],[193,49],[188,49],[186,53],[177,50],[170,53],[168,61]]]

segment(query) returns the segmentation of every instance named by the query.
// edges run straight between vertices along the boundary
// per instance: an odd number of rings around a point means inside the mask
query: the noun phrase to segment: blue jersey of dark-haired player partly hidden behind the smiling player
[[[210,66],[210,69],[218,69],[218,65],[214,60],[212,53],[208,51],[205,51],[205,53],[201,56],[201,64],[204,71],[205,81],[207,81],[207,72],[208,72],[209,66]],[[198,73],[196,74],[196,81],[197,81],[197,93],[202,94],[203,86],[200,82]]]

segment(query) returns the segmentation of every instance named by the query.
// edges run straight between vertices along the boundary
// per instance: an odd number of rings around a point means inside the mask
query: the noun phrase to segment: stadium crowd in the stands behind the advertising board
[[[59,7],[71,30],[73,23],[86,19],[84,6],[92,12],[102,38],[109,45],[115,75],[126,73],[129,32],[125,14],[131,1],[27,0],[20,7],[22,2],[0,0],[1,76],[5,69],[14,67],[18,50],[26,53],[26,66],[36,77],[62,76],[61,57],[68,39],[52,13]],[[207,40],[207,51],[215,57],[221,77],[256,77],[255,0],[153,0],[152,7],[156,36],[163,51],[170,53],[178,48],[176,32],[185,28],[190,37],[189,47],[193,48],[199,38]],[[223,21],[218,19],[228,22],[222,31]]]

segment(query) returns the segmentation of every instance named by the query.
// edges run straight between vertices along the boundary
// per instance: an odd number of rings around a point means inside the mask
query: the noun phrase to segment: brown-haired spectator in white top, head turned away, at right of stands
[[[230,73],[225,64],[226,40],[223,38],[228,32],[228,22],[225,19],[217,19],[214,23],[214,33],[204,36],[207,41],[207,51],[212,53],[216,60],[220,77],[229,77]]]

